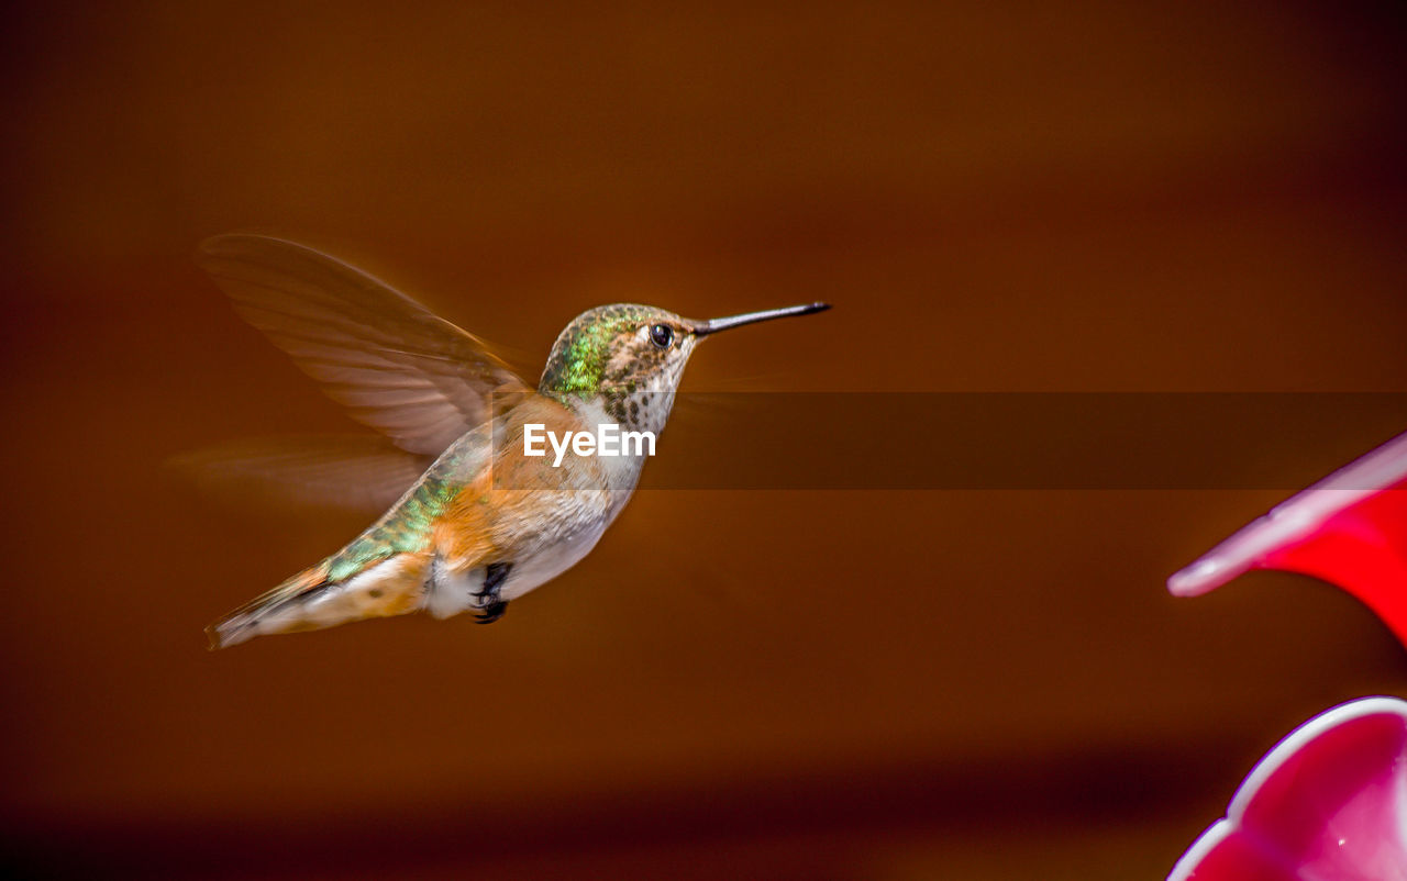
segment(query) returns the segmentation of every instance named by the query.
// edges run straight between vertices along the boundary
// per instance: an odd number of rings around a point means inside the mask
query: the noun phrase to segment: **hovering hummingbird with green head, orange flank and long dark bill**
[[[612,457],[536,455],[525,434],[580,440],[611,427],[653,438],[701,340],[830,308],[694,320],[637,304],[597,306],[557,336],[533,388],[478,337],[312,247],[224,235],[200,246],[197,263],[245,320],[422,468],[342,549],[211,624],[211,649],[416,611],[497,621],[595,547],[647,458],[639,443]],[[378,479],[370,466],[343,476]]]

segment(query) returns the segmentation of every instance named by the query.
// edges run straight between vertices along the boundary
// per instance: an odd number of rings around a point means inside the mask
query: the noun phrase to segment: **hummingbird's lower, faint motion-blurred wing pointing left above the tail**
[[[187,452],[169,465],[225,500],[380,514],[429,466],[374,434],[249,438]]]

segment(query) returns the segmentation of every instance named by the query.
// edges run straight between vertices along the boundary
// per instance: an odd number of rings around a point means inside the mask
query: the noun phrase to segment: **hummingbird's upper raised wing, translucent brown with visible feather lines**
[[[526,385],[483,341],[366,273],[257,235],[215,236],[197,263],[250,325],[352,416],[438,455]]]

